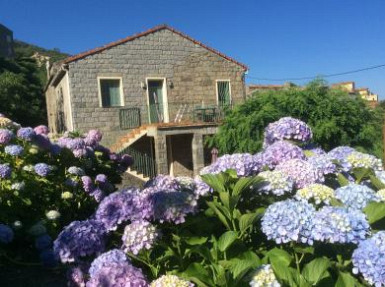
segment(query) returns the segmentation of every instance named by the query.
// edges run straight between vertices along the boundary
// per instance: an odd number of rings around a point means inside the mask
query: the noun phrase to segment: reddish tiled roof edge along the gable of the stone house
[[[226,56],[225,54],[213,49],[213,48],[210,48],[208,46],[206,46],[205,44],[191,38],[190,36],[187,36],[186,34],[183,34],[182,32],[179,32],[177,30],[175,30],[174,28],[171,28],[167,25],[160,25],[160,26],[156,26],[154,28],[151,28],[147,31],[144,31],[144,32],[141,32],[141,33],[138,33],[138,34],[135,34],[135,35],[132,35],[132,36],[129,36],[127,38],[124,38],[124,39],[121,39],[121,40],[118,40],[118,41],[115,41],[115,42],[112,42],[112,43],[109,43],[109,44],[106,44],[102,47],[98,47],[98,48],[95,48],[95,49],[92,49],[92,50],[89,50],[89,51],[86,51],[86,52],[82,52],[80,54],[77,54],[77,55],[74,55],[74,56],[71,56],[71,57],[68,57],[67,59],[64,60],[63,64],[68,64],[68,63],[72,63],[72,62],[75,62],[77,60],[80,60],[80,59],[84,59],[85,57],[88,57],[88,56],[91,56],[91,55],[94,55],[94,54],[97,54],[97,53],[100,53],[104,50],[107,50],[107,49],[110,49],[112,47],[115,47],[115,46],[118,46],[120,44],[124,44],[124,43],[127,43],[127,42],[130,42],[130,41],[133,41],[137,38],[140,38],[140,37],[143,37],[143,36],[146,36],[146,35],[149,35],[149,34],[152,34],[152,33],[155,33],[155,32],[158,32],[158,31],[161,31],[161,30],[169,30],[191,42],[193,42],[194,44],[197,44],[207,50],[209,50],[210,52],[214,53],[214,54],[217,54],[218,56],[230,61],[230,62],[233,62],[239,66],[241,66],[245,71],[248,70],[247,66],[234,60],[233,58],[231,57],[228,57]]]

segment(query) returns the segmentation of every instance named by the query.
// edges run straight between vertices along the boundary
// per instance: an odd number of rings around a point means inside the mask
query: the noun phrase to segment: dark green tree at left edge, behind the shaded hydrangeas
[[[25,126],[47,122],[43,84],[33,59],[0,58],[0,112]]]

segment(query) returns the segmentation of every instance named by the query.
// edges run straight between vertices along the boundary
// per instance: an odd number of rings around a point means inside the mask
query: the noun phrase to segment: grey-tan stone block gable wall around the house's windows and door
[[[147,91],[141,87],[148,77],[164,77],[168,102],[216,103],[216,79],[229,79],[233,102],[244,99],[243,69],[170,30],[159,30],[69,64],[73,128],[99,128],[103,143],[110,145],[127,133],[121,130],[122,107],[100,107],[97,77],[121,77],[125,107],[141,110],[148,122]],[[170,115],[170,121],[174,116]]]

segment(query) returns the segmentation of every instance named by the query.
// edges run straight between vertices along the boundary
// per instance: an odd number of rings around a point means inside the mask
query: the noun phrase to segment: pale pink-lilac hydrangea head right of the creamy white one
[[[283,172],[294,180],[296,188],[304,188],[309,184],[325,181],[322,171],[318,170],[310,162],[300,159],[283,162],[276,167],[276,170]]]

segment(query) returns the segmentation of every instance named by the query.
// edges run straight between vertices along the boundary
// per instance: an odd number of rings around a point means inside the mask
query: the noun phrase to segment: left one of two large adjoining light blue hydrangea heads
[[[277,244],[290,241],[312,244],[313,205],[287,199],[271,204],[262,217],[262,232]]]

